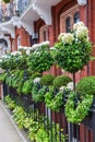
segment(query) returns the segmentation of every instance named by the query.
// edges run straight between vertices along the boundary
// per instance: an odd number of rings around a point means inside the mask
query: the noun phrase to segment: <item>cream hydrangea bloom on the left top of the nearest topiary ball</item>
[[[71,33],[66,33],[64,36],[62,37],[63,44],[72,44],[74,40],[74,36]]]

